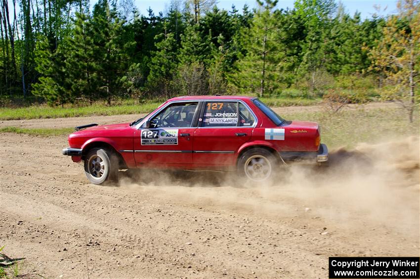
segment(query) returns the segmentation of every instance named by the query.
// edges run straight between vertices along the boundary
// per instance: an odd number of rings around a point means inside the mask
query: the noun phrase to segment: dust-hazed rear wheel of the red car
[[[277,158],[264,148],[252,148],[238,159],[240,177],[255,182],[262,182],[273,177],[278,166]]]

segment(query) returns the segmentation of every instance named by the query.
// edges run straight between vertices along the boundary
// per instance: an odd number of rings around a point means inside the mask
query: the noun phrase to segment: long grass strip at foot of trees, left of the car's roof
[[[81,117],[97,115],[125,115],[148,113],[156,109],[161,103],[124,104],[108,107],[95,104],[88,107],[48,107],[31,106],[25,108],[0,108],[0,120],[39,119],[59,117]]]

